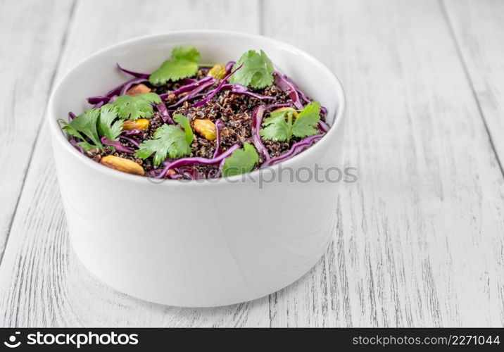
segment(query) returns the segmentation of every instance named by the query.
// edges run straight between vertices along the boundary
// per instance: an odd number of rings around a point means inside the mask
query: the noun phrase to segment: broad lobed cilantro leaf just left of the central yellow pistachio
[[[154,138],[142,142],[134,156],[146,159],[154,154],[154,165],[160,165],[167,156],[172,159],[188,156],[191,148],[187,143],[186,134],[175,125],[163,125],[156,130]]]

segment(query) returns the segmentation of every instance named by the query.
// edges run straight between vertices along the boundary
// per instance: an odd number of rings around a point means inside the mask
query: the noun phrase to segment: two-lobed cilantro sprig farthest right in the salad
[[[292,123],[293,117],[296,117]],[[285,119],[287,118],[287,119]],[[263,121],[260,135],[270,141],[289,141],[292,136],[308,137],[317,134],[317,124],[320,120],[320,103],[314,101],[307,104],[300,113],[294,108],[283,108],[273,111],[269,118]]]

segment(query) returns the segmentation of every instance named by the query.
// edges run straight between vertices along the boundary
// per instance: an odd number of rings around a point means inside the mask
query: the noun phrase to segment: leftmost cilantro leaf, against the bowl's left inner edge
[[[78,115],[77,118],[74,118],[70,122],[61,120],[63,122],[63,130],[73,137],[82,139],[82,142],[77,144],[82,146],[84,151],[89,151],[89,149],[94,148],[103,150],[98,130],[96,130],[96,123],[98,122],[99,116],[100,112],[98,109],[89,109]],[[89,138],[92,143],[87,142],[86,139],[84,139],[84,136]]]

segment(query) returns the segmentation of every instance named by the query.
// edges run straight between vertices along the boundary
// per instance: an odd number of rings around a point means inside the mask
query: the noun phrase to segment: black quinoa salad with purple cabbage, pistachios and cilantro
[[[91,108],[58,122],[75,149],[133,175],[199,180],[275,165],[317,143],[327,110],[279,73],[263,52],[199,63],[177,46],[157,70],[137,73]]]

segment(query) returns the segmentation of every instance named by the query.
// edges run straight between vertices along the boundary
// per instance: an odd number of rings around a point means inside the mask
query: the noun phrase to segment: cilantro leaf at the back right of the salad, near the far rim
[[[264,51],[258,54],[249,50],[241,56],[234,69],[239,65],[243,66],[234,75],[229,77],[229,82],[238,83],[244,86],[250,85],[253,88],[264,88],[273,83],[273,65]]]

